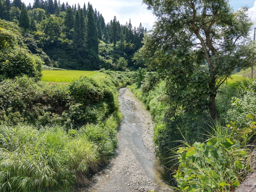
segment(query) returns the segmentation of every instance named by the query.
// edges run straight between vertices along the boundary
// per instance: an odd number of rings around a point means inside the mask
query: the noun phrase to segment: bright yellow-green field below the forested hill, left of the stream
[[[70,83],[81,75],[96,75],[98,72],[94,71],[59,71],[59,70],[43,70],[42,74],[42,81],[46,82],[56,82],[56,83]]]

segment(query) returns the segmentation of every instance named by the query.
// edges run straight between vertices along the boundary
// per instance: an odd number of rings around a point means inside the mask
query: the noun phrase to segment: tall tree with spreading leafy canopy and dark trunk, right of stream
[[[157,67],[162,72],[167,69],[169,76],[177,70],[173,65],[181,62],[177,64],[180,66],[184,57],[190,57],[187,64],[192,72],[196,70],[195,64],[206,62],[209,68],[208,105],[215,119],[217,89],[234,69],[249,66],[253,57],[247,40],[253,23],[246,14],[247,8],[233,11],[227,0],[143,2],[158,19],[140,53],[148,60],[150,68]]]

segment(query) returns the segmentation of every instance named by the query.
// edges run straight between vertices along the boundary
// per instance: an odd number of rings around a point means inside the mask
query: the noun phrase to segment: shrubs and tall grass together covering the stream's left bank
[[[117,90],[133,83],[114,73],[69,84],[27,76],[0,83],[1,192],[89,182],[88,175],[114,155],[122,117]]]

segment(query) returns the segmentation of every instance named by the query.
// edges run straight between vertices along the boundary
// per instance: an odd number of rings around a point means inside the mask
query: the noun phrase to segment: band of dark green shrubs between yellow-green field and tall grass
[[[107,77],[98,82],[83,76],[71,84],[47,84],[24,76],[4,80],[0,89],[2,124],[59,124],[71,129],[100,122],[118,109],[116,88]]]

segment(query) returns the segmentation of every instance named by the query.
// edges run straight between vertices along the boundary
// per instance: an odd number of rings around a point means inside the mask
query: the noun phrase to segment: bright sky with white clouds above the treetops
[[[33,5],[34,0],[22,0],[26,5],[31,3]],[[69,5],[78,3],[83,6],[83,3],[88,4],[85,0],[60,0],[60,3],[66,3]],[[150,10],[147,10],[147,6],[142,4],[142,0],[90,0],[93,9],[97,9],[103,15],[105,22],[109,22],[116,16],[117,20],[121,24],[129,23],[131,19],[132,26],[138,27],[140,22],[142,26],[147,29],[152,29],[155,17]],[[256,5],[254,6],[255,0],[230,0],[230,5],[234,10],[239,9],[241,6],[249,6],[248,15],[251,16],[252,20],[256,23]],[[255,16],[254,16],[255,15]]]

